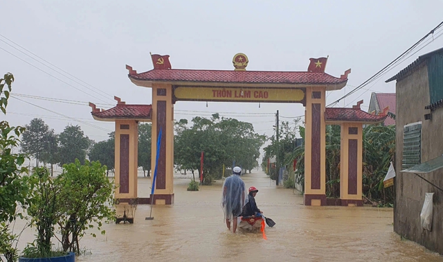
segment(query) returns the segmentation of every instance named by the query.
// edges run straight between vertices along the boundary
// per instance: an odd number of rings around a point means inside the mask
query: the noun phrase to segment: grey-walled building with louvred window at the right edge
[[[443,254],[443,49],[421,55],[397,80],[394,231]],[[419,166],[417,166],[419,165]],[[422,228],[433,195],[431,230]]]

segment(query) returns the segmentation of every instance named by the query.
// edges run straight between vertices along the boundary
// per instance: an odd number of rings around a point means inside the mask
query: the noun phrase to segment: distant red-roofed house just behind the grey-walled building
[[[388,112],[395,115],[395,93],[372,93],[371,101],[369,103],[368,113],[375,113],[376,115],[379,112],[383,112],[383,109],[386,107],[389,108]],[[388,117],[383,122],[383,125],[395,125],[395,118]]]

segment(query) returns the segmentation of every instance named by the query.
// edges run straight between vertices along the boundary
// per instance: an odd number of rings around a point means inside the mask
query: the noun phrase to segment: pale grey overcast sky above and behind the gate
[[[127,103],[152,103],[151,89],[132,84],[125,69],[129,64],[138,72],[151,70],[150,52],[170,55],[174,69],[223,70],[233,70],[233,55],[245,53],[247,70],[258,71],[306,71],[309,58],[329,55],[327,73],[340,77],[352,69],[348,86],[329,92],[327,103],[332,103],[437,26],[443,1],[3,0],[0,9],[0,73],[14,74],[13,94],[112,107],[114,96]],[[78,79],[69,76],[73,82],[29,58],[4,37]],[[443,37],[428,43],[378,82],[337,106],[351,107],[363,99],[362,109],[368,110],[372,91],[395,92],[395,82],[386,84],[384,80],[419,55],[441,48]],[[86,104],[16,97],[84,123],[11,98],[6,120],[12,125],[26,125],[41,117],[62,132],[67,124],[78,124],[96,141],[107,139],[107,133],[114,130],[113,123],[94,121]],[[259,108],[258,103],[213,102],[206,107],[202,102],[178,102],[175,110],[176,119],[208,116],[208,112],[243,113],[237,119],[253,123],[256,131],[268,135],[273,134],[277,110],[281,120],[304,114],[301,104],[278,103],[262,103]]]

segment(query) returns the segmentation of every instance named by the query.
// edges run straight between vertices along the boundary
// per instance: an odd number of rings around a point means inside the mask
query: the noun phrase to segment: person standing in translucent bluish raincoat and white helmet
[[[248,202],[244,182],[240,175],[242,175],[242,168],[235,166],[233,175],[224,180],[221,197],[221,207],[223,207],[226,227],[230,229],[230,223],[232,222],[233,233],[237,230],[237,217],[242,214],[243,208]]]

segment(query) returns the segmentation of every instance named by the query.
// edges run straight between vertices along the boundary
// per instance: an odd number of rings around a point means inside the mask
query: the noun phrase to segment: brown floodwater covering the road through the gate
[[[307,207],[298,191],[276,188],[262,172],[242,179],[259,189],[258,207],[276,222],[266,227],[267,240],[261,232],[228,232],[221,181],[189,192],[190,180],[176,178],[173,206],[154,206],[154,220],[145,220],[150,206],[139,205],[134,224],[109,224],[104,236],[85,236],[80,244],[90,254],[77,261],[443,261],[401,240],[390,208]],[[150,179],[139,177],[138,183],[138,195],[149,195]],[[26,230],[19,248],[32,240]]]

